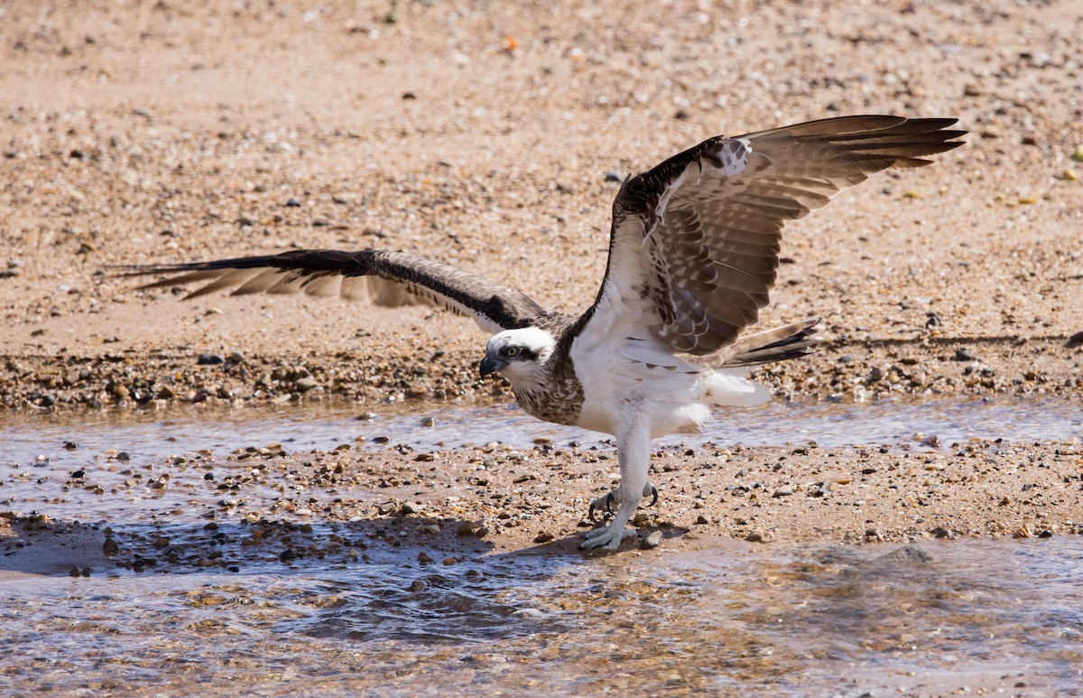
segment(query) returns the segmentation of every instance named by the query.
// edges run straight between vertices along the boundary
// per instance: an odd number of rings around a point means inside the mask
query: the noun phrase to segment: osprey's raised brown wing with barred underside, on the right
[[[853,116],[716,137],[626,181],[605,279],[578,326],[624,312],[676,351],[731,345],[768,303],[787,220],[873,172],[929,164],[962,144],[954,122]]]

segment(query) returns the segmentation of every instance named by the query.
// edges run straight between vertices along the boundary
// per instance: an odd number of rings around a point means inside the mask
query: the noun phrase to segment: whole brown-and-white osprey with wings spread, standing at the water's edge
[[[427,302],[493,334],[481,375],[503,374],[540,419],[616,437],[621,482],[590,503],[613,513],[582,548],[617,550],[648,482],[651,440],[694,432],[712,408],[751,405],[766,390],[742,369],[804,356],[819,320],[746,334],[774,284],[783,224],[889,167],[928,165],[962,144],[955,119],[852,116],[708,139],[625,180],[613,202],[609,261],[579,315],[439,261],[381,249],[127,268],[147,284],[209,282],[191,294],[339,295]],[[652,502],[653,503],[653,502]]]

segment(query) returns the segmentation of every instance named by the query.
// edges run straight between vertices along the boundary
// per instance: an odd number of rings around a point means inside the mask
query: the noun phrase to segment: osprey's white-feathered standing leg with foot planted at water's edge
[[[583,550],[604,547],[615,551],[621,546],[621,541],[636,534],[636,529],[625,527],[631,520],[631,515],[639,506],[639,501],[654,489],[647,481],[647,470],[651,462],[651,435],[644,422],[645,417],[637,414],[616,435],[616,457],[617,463],[621,464],[621,487],[615,490],[616,494],[613,499],[618,502],[617,510],[609,526],[602,526],[587,532],[586,540],[579,544]],[[654,491],[656,492],[656,490]],[[602,504],[609,503],[609,495],[599,499],[603,500]],[[591,502],[591,509],[597,504],[598,500]]]

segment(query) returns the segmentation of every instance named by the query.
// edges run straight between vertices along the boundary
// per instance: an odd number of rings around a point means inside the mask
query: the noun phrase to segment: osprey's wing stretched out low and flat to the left
[[[185,298],[234,288],[233,295],[341,296],[397,307],[427,303],[469,315],[497,333],[534,325],[545,310],[524,294],[425,257],[381,249],[298,249],[264,257],[123,267],[126,276],[166,275],[141,286],[203,283]]]

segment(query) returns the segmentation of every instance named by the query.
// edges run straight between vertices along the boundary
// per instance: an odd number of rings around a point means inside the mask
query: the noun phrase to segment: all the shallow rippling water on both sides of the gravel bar
[[[203,505],[219,495],[204,469],[155,467],[199,449],[329,450],[358,436],[366,448],[603,443],[507,404],[361,412],[42,414],[0,427],[0,510],[125,521],[130,537],[201,541],[244,559],[134,573],[104,557],[93,527],[47,530],[26,548],[36,567],[15,564],[23,551],[0,557],[0,695],[1073,695],[1083,686],[1083,537],[938,541],[923,545],[929,560],[877,560],[897,550],[883,545],[733,542],[590,557],[545,545],[498,553],[479,541],[444,565],[439,541],[419,551],[375,535],[373,522],[314,521],[309,535],[339,537],[341,551],[285,565],[282,545],[245,553],[244,527],[205,528]],[[923,449],[934,447],[915,432],[941,443],[1083,436],[1083,413],[1064,399],[771,403],[723,416],[669,442]],[[389,440],[375,443],[380,436]],[[106,492],[71,484],[84,467]],[[160,491],[159,470],[171,474]],[[138,488],[120,487],[132,479]],[[436,561],[419,561],[419,552]],[[68,577],[73,564],[92,576]]]

